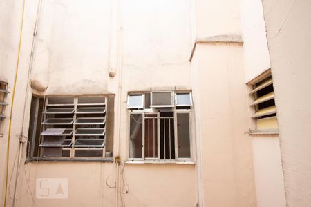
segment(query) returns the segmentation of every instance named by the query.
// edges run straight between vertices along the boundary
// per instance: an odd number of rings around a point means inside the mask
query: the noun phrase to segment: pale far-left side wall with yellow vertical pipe
[[[23,37],[21,44],[21,55],[19,58],[19,72],[17,73],[17,84],[15,93],[15,104],[13,106],[12,113],[12,133],[10,139],[10,154],[9,154],[9,175],[15,177],[13,172],[13,163],[15,161],[16,168],[16,154],[19,144],[19,137],[21,137],[22,124],[25,124],[23,128],[24,135],[27,135],[28,130],[28,117],[25,114],[25,121],[23,122],[23,108],[25,101],[29,103],[31,97],[26,97],[26,85],[28,77],[30,48],[32,43],[33,34],[33,22],[35,22],[35,14],[37,10],[37,1],[28,1],[25,5],[26,12],[24,16]],[[10,117],[10,108],[12,106],[12,91],[14,86],[15,70],[17,68],[17,57],[19,48],[19,34],[21,32],[21,1],[1,1],[0,2],[0,79],[8,83],[8,90],[10,93],[6,97],[6,102],[9,103],[6,106],[4,114],[6,119],[0,124],[0,133],[3,133],[3,137],[0,137],[0,201],[1,206],[4,200],[4,189],[6,184],[6,158],[7,158],[7,146],[8,146],[8,123]],[[29,109],[30,104],[26,105],[26,110]],[[10,177],[9,177],[10,178]],[[14,186],[14,179],[10,184],[10,195],[12,195],[12,188]],[[12,202],[8,202],[12,205]]]

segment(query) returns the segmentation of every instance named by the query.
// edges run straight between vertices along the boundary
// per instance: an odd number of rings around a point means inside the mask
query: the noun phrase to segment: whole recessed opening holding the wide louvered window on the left
[[[44,103],[42,97],[32,97],[28,157],[112,159],[113,99],[46,97]]]

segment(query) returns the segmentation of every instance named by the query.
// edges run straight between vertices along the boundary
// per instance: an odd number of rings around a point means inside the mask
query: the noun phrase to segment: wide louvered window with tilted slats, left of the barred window
[[[30,142],[37,143],[39,157],[105,157],[107,99],[47,97],[41,103],[41,133],[31,133]],[[39,104],[33,105],[39,108]],[[38,109],[35,111],[37,114]],[[35,156],[33,152],[31,156]]]

